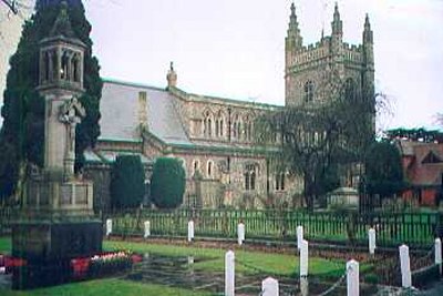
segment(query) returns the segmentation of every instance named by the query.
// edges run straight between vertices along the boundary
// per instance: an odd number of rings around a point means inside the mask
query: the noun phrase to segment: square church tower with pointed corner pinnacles
[[[343,42],[343,21],[336,3],[331,35],[322,33],[315,44],[303,45],[293,3],[290,10],[285,42],[286,105],[320,104],[338,98],[344,89],[353,94],[369,91],[373,96],[373,34],[369,17],[364,22],[362,44],[350,45]]]

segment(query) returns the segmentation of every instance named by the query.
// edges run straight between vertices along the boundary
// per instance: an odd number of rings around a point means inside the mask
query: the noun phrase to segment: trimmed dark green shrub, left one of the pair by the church
[[[144,195],[145,173],[140,156],[119,155],[111,172],[112,207],[136,207]]]

